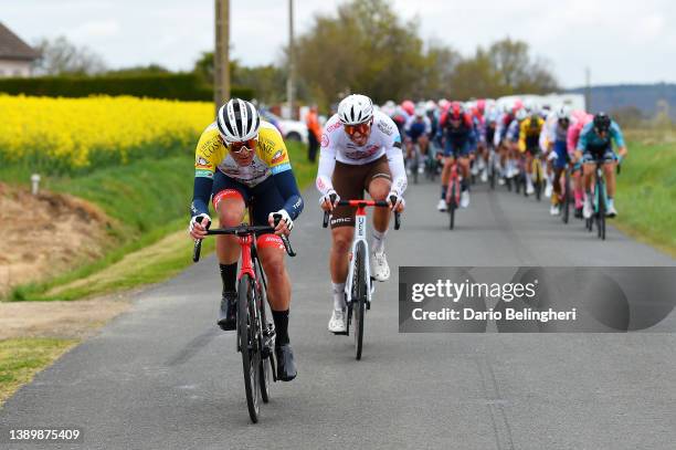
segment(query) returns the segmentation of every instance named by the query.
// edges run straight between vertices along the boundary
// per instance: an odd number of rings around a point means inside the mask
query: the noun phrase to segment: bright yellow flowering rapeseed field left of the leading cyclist
[[[192,153],[211,121],[208,102],[0,94],[0,165],[77,171],[148,153]]]

